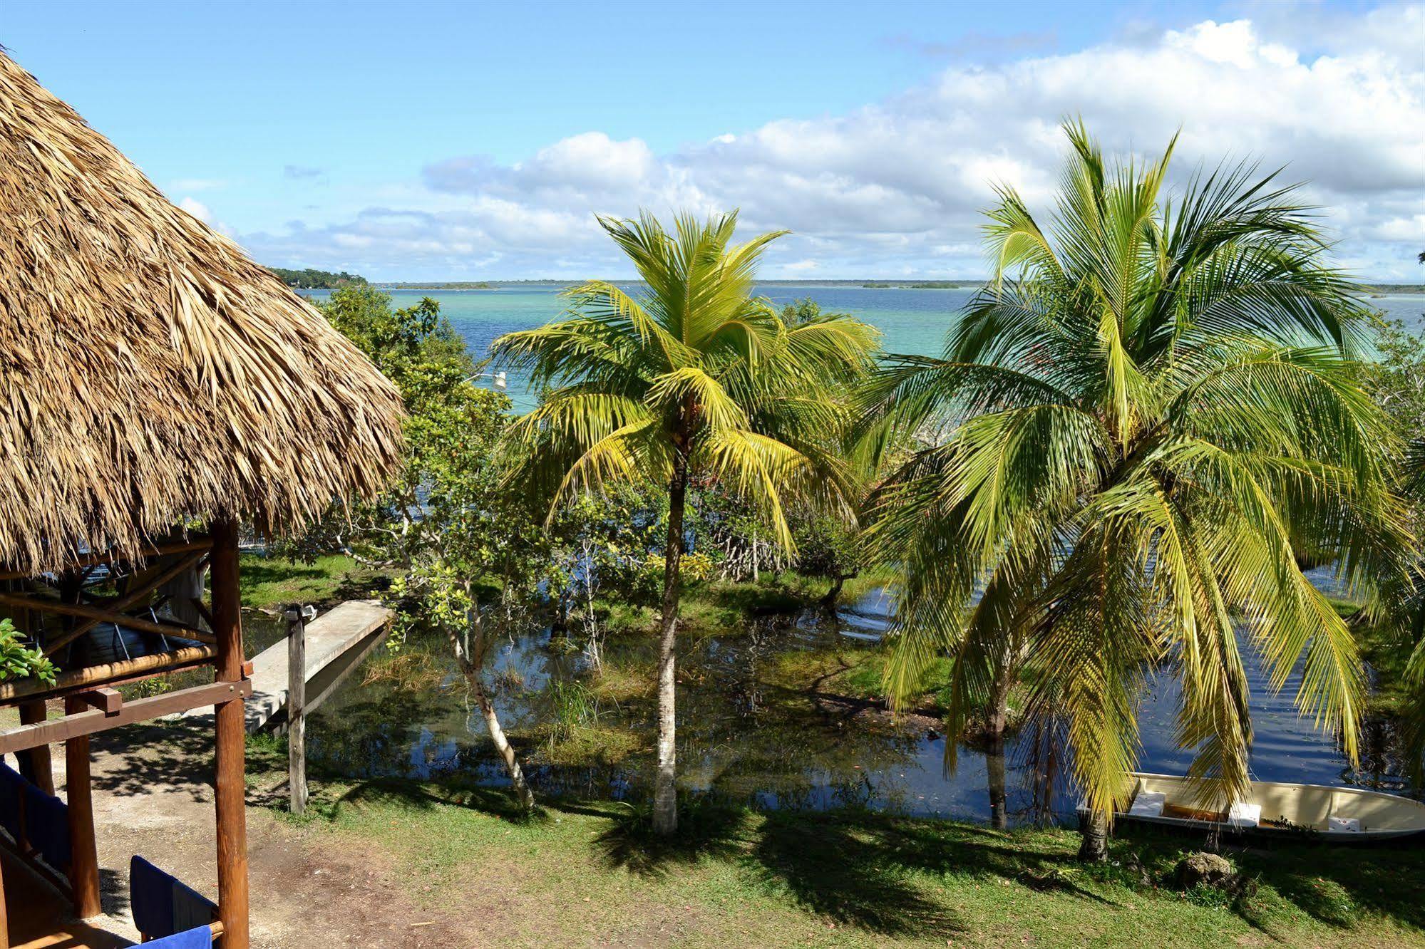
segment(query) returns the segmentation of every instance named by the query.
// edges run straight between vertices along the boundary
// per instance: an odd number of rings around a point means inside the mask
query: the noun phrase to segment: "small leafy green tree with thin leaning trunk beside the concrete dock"
[[[502,613],[500,628],[514,623],[549,557],[544,531],[520,496],[500,486],[510,402],[472,385],[476,363],[433,299],[393,309],[385,294],[352,286],[332,294],[325,312],[396,383],[409,413],[402,473],[385,497],[355,512],[342,543],[403,571],[390,591],[400,630],[422,626],[446,637],[527,809],[533,792],[484,683],[497,638],[487,614]]]

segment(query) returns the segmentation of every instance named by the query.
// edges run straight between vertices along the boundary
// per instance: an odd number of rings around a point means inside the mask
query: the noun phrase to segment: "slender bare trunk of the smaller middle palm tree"
[[[680,571],[683,564],[683,510],[687,506],[688,472],[680,459],[668,483],[668,540],[663,549],[663,627],[658,634],[658,774],[653,782],[653,829],[678,829],[677,785],[677,643]]]

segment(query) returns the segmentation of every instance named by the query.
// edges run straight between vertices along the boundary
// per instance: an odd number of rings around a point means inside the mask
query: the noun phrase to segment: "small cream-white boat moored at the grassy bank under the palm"
[[[1141,772],[1129,778],[1133,799],[1120,821],[1270,836],[1315,831],[1340,844],[1425,838],[1425,804],[1382,791],[1253,781],[1245,799],[1214,811],[1203,808],[1191,778]]]

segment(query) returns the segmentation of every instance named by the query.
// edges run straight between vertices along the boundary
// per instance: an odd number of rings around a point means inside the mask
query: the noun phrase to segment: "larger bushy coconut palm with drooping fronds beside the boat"
[[[1003,728],[1023,688],[1063,724],[1099,856],[1150,670],[1181,683],[1204,805],[1248,782],[1244,650],[1278,690],[1300,664],[1298,708],[1355,758],[1362,664],[1301,564],[1335,560],[1369,593],[1409,537],[1358,383],[1364,309],[1294,188],[1238,165],[1171,199],[1171,145],[1110,167],[1064,131],[1050,219],[1000,190],[995,278],[945,358],[892,359],[872,390],[868,445],[909,455],[869,534],[901,573],[888,691],[948,651],[953,750],[976,712]]]

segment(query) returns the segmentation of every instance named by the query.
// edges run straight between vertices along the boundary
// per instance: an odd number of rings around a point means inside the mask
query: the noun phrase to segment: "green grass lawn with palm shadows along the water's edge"
[[[284,765],[255,742],[255,782]],[[1257,882],[1234,898],[1164,885],[1176,839],[1119,839],[1113,862],[1084,866],[1070,831],[871,812],[703,805],[670,846],[621,804],[520,821],[497,791],[318,778],[299,824],[376,842],[432,911],[497,912],[502,945],[1425,945],[1421,849],[1233,854]]]

